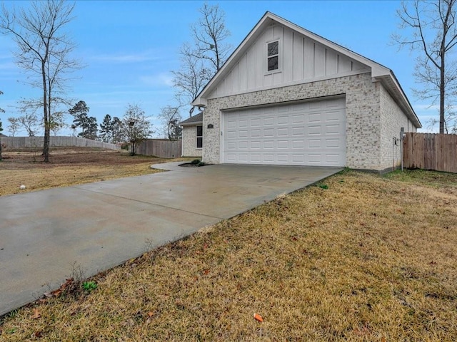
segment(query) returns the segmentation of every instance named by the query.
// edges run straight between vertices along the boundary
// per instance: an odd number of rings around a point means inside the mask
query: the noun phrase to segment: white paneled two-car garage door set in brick
[[[333,98],[223,114],[222,161],[344,166],[346,100]]]

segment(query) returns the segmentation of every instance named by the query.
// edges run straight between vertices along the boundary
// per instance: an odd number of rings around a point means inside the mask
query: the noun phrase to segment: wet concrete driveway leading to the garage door
[[[92,276],[341,170],[178,165],[0,197],[0,315],[59,288],[75,263]]]

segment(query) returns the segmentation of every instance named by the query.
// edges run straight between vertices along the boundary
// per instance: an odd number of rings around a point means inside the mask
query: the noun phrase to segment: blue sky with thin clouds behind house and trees
[[[414,56],[390,46],[397,29],[400,1],[208,1],[226,13],[233,47],[251,31],[266,11],[271,11],[324,38],[391,68],[401,83],[424,128],[437,114],[429,103],[413,97]],[[27,6],[5,1],[6,6]],[[199,19],[204,1],[76,1],[76,18],[67,27],[77,44],[74,56],[86,65],[76,71],[68,95],[84,100],[89,115],[101,123],[104,115],[124,115],[137,103],[159,127],[161,108],[174,104],[171,71],[179,68],[179,47],[190,41],[189,25]],[[21,98],[39,95],[24,84],[23,71],[14,63],[10,36],[0,36],[0,107],[4,132],[6,118],[19,116],[14,108]],[[183,113],[186,118],[186,113]],[[68,115],[67,121],[73,118]],[[61,134],[70,134],[63,130]],[[25,135],[21,132],[18,135]]]

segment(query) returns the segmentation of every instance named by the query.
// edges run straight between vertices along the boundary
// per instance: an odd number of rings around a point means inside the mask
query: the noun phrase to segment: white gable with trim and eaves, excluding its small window
[[[283,55],[278,71],[268,73],[266,43],[270,39],[281,39],[279,50]],[[373,82],[382,83],[413,125],[422,127],[389,68],[270,12],[263,15],[191,105],[204,108],[211,98],[360,73],[370,73]]]

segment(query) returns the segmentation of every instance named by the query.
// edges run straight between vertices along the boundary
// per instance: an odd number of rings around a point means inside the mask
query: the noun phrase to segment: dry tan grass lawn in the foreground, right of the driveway
[[[456,217],[457,175],[345,171],[11,312],[0,340],[457,341]]]

